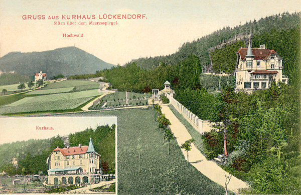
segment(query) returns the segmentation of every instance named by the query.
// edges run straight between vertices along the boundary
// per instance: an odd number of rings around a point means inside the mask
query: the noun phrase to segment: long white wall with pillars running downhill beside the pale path
[[[179,101],[177,101],[173,94],[166,94],[167,98],[169,98],[170,103],[184,115],[186,120],[192,124],[192,126],[199,131],[201,134],[204,132],[210,131],[212,127],[212,123],[209,120],[202,120],[197,115],[192,113],[189,109],[187,109],[184,105],[182,105]]]

